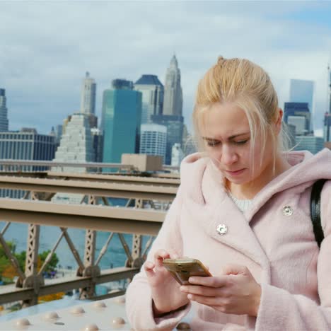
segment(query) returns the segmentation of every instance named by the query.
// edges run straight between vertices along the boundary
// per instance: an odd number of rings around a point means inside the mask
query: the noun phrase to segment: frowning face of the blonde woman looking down
[[[270,175],[273,165],[271,139],[267,139],[262,154],[263,144],[257,133],[251,155],[248,118],[235,103],[212,105],[203,115],[200,132],[211,160],[230,182],[243,185]]]

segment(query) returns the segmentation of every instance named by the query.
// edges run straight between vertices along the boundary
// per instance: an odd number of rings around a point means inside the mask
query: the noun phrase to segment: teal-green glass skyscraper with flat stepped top
[[[139,153],[141,92],[132,81],[115,79],[103,91],[103,162],[120,163],[122,153]]]

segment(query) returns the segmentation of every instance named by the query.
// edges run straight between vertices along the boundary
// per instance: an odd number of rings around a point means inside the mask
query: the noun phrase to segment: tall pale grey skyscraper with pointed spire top
[[[180,86],[180,69],[175,55],[165,74],[163,115],[182,115],[182,86]]]

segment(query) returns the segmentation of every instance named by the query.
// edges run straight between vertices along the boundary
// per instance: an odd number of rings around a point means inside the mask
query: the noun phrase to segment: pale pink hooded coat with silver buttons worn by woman
[[[154,318],[141,271],[127,289],[127,316],[135,330],[171,330],[190,309],[192,330],[331,330],[331,181],[322,193],[320,250],[309,210],[313,182],[331,180],[331,151],[287,156],[292,167],[269,182],[244,214],[224,191],[211,161],[199,153],[187,156],[177,197],[147,257],[153,260],[160,248],[176,250],[201,260],[214,275],[228,263],[248,267],[262,287],[257,318],[199,303]],[[226,224],[227,233],[216,231],[219,224]]]

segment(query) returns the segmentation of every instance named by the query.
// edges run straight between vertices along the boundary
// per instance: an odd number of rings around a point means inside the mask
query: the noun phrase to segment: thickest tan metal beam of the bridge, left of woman
[[[0,198],[0,219],[62,228],[156,236],[164,211]]]

